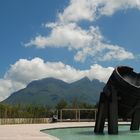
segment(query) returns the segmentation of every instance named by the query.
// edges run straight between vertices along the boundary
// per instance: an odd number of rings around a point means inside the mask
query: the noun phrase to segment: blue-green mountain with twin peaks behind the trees
[[[26,88],[11,94],[3,103],[55,106],[61,99],[70,103],[76,98],[81,102],[95,104],[104,85],[98,80],[90,81],[87,77],[73,83],[45,78],[32,81]]]

